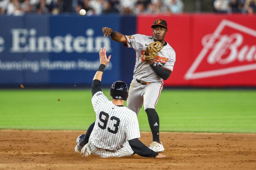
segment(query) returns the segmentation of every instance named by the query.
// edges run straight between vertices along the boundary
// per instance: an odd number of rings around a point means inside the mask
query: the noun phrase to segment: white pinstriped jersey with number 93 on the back
[[[101,91],[93,95],[92,106],[96,122],[89,140],[94,146],[117,151],[125,141],[140,137],[137,115],[132,110],[114,105]]]

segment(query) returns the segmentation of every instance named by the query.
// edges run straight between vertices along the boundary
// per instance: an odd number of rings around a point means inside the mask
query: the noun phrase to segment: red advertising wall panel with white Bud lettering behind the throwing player
[[[168,24],[165,40],[176,63],[165,86],[256,86],[256,16],[194,14],[139,16],[137,33]]]

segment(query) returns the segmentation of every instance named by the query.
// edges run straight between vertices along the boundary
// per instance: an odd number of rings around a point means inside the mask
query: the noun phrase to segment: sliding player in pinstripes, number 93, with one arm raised
[[[100,67],[92,81],[92,106],[96,121],[88,128],[86,134],[76,139],[75,151],[84,156],[91,154],[102,158],[131,156],[137,153],[148,158],[165,158],[140,142],[137,115],[124,107],[128,97],[128,87],[123,81],[116,81],[110,88],[112,101],[103,94],[100,82],[105,66],[111,55],[106,55],[105,47],[100,49]]]

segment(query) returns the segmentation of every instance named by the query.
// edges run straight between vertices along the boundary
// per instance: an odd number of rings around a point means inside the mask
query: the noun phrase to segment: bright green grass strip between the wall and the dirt
[[[161,131],[256,133],[255,90],[164,89],[156,111]],[[138,119],[150,131],[143,107]],[[90,90],[0,90],[0,129],[84,130],[93,121]]]

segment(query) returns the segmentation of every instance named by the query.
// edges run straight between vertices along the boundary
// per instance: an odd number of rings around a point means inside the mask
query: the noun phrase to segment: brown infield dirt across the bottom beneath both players
[[[161,133],[168,159],[81,157],[83,131],[0,130],[0,169],[254,169],[256,134]],[[151,133],[140,140],[151,143]]]

